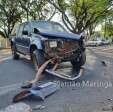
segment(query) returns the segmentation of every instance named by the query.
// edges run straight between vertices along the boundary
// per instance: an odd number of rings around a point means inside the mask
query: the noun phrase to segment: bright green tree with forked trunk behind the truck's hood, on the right
[[[73,33],[82,33],[108,14],[112,0],[47,0],[62,15],[64,25]],[[110,9],[110,10],[109,10]]]

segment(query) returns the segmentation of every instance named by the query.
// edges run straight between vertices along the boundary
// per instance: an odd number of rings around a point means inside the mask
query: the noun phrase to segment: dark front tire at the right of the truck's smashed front
[[[79,58],[79,61],[72,60],[71,64],[73,68],[79,69],[81,66],[83,66],[86,62],[86,54],[85,52],[81,53],[81,57]]]

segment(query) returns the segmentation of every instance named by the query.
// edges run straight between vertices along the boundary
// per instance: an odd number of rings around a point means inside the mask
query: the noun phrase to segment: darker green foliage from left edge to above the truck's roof
[[[43,0],[1,0],[0,35],[8,38],[13,27],[25,20],[50,20],[56,10]]]

